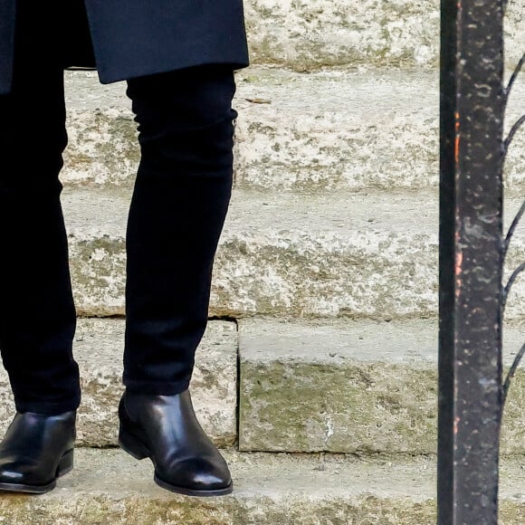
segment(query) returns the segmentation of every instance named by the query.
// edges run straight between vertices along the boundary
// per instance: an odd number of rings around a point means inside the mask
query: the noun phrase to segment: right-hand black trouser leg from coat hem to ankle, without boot
[[[124,383],[186,390],[205,331],[232,190],[233,72],[202,67],[129,81],[141,161],[127,234]]]

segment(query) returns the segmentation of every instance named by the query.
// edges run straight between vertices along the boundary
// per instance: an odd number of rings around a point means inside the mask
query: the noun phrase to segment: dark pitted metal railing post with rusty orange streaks
[[[502,29],[502,0],[442,0],[440,525],[498,520]]]

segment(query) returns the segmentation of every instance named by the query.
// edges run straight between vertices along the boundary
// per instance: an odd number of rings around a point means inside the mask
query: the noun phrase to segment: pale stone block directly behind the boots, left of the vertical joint
[[[78,444],[117,444],[124,348],[123,320],[79,320],[74,353],[81,368],[82,401]],[[233,322],[211,321],[197,349],[191,383],[196,414],[205,431],[222,446],[237,438],[237,331]],[[5,370],[0,374],[0,434],[14,414]],[[0,521],[1,522],[1,521]]]

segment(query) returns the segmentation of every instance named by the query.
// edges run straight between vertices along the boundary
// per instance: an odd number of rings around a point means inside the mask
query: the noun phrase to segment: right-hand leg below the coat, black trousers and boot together
[[[142,157],[127,233],[121,437],[133,441],[124,443],[129,452],[154,459],[159,484],[194,495],[231,492],[186,390],[232,190],[234,91],[234,73],[219,66],[132,80],[128,89]],[[154,421],[160,412],[174,434]],[[185,455],[191,462],[179,461]]]

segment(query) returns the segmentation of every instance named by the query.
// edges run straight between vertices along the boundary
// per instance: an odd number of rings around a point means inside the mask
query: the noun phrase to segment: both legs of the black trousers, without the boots
[[[0,350],[17,410],[58,414],[81,396],[59,181],[71,31],[60,16],[43,24],[41,4],[20,2],[14,87],[0,96]],[[234,91],[219,66],[128,82],[141,149],[126,236],[130,390],[188,387],[231,196]]]

